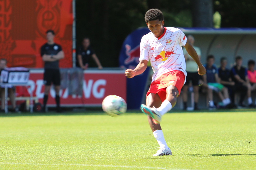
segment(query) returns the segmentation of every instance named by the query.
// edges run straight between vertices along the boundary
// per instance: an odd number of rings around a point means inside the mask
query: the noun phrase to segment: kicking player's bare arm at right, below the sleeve
[[[196,62],[197,66],[198,66],[198,74],[199,75],[203,75],[206,73],[206,69],[205,67],[202,65],[194,47],[187,41],[186,44],[184,45],[185,49],[187,50],[188,54],[194,59],[194,61]]]

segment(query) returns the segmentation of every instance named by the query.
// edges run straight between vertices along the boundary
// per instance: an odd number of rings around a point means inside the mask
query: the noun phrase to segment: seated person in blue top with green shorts
[[[207,95],[209,99],[209,109],[215,109],[216,106],[213,102],[213,91],[217,92],[220,99],[222,100],[222,105],[226,106],[230,104],[228,89],[220,84],[220,79],[218,76],[218,69],[214,65],[214,56],[208,55],[206,64],[206,74],[203,75],[203,86],[207,87]],[[223,94],[222,94],[223,93]]]

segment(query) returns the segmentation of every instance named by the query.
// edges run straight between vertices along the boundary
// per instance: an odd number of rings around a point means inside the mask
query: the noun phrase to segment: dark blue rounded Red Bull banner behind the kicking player
[[[130,33],[123,42],[119,54],[119,66],[124,70],[134,69],[139,63],[140,42],[143,35],[150,32],[148,27],[138,28]],[[160,59],[160,57],[159,57]],[[148,67],[143,74],[127,79],[127,108],[138,109],[143,97],[146,97],[145,87],[148,79]],[[145,94],[145,96],[143,96]]]

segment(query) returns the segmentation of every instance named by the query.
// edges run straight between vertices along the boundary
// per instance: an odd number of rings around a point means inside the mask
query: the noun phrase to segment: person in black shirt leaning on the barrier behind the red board
[[[91,58],[93,58],[98,65],[98,69],[102,69],[100,60],[90,46],[90,39],[88,37],[84,37],[82,46],[78,48],[77,67],[81,67],[83,70],[86,70],[89,66],[89,61]]]

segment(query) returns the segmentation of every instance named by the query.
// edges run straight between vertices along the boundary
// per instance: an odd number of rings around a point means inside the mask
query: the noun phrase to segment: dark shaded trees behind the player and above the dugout
[[[150,8],[164,13],[167,27],[256,27],[255,0],[76,0],[77,46],[89,36],[103,67],[118,67],[118,56],[126,36],[146,27]],[[217,13],[216,13],[217,12]],[[89,63],[96,67],[94,61]]]

